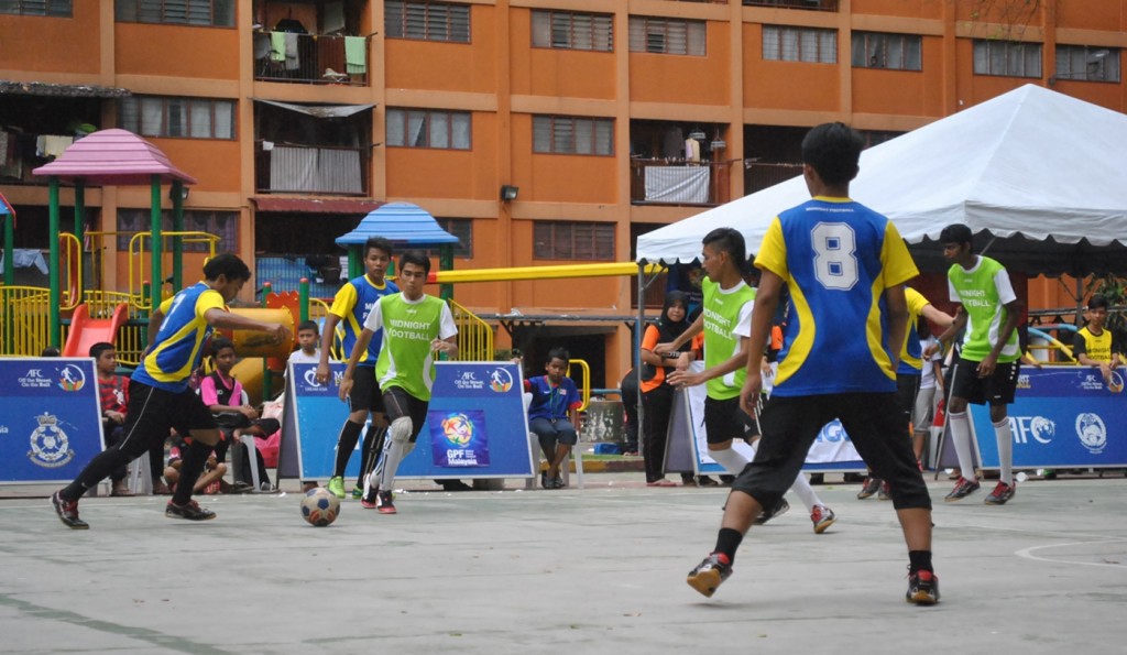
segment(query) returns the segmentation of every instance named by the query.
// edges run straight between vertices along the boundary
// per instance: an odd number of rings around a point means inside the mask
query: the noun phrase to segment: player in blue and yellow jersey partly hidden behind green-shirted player
[[[383,237],[371,237],[364,244],[364,275],[349,280],[340,287],[329,316],[325,319],[325,334],[321,336],[321,362],[317,366],[317,380],[322,384],[329,380],[329,351],[332,337],[340,334],[340,359],[352,353],[356,338],[364,329],[364,319],[384,295],[398,293],[399,287],[387,280],[388,265],[391,264],[391,241]],[[348,395],[348,418],[337,437],[337,458],[329,478],[329,490],[338,498],[345,497],[345,468],[348,459],[360,441],[360,432],[364,430],[367,415],[372,415],[372,424],[364,435],[364,446],[361,457],[360,477],[353,488],[353,497],[363,494],[364,473],[379,457],[380,444],[387,432],[388,422],[383,415],[383,395],[375,379],[375,362],[383,344],[383,330],[376,333],[369,342],[367,349],[361,353],[357,364],[355,383]]]

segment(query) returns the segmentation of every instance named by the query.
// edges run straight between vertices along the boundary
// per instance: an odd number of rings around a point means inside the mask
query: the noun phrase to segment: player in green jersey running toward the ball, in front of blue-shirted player
[[[340,399],[348,397],[353,374],[372,336],[383,329],[383,345],[375,362],[375,377],[383,391],[389,437],[375,470],[369,476],[361,505],[381,514],[394,514],[391,490],[399,462],[415,448],[426,421],[434,384],[437,353],[458,356],[458,327],[445,301],[423,293],[431,259],[409,250],[399,260],[400,293],[384,295],[364,319],[364,329],[348,357],[340,380]]]

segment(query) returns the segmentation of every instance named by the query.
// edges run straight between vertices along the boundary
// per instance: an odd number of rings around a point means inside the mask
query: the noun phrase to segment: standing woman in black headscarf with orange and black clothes
[[[657,344],[671,343],[689,329],[689,300],[681,291],[665,294],[662,316],[656,325],[646,326],[641,340],[641,389],[645,409],[642,457],[646,463],[646,484],[650,487],[674,487],[665,479],[665,449],[669,433],[669,413],[673,409],[673,387],[666,377],[676,370],[681,353],[689,352],[686,340],[676,351],[655,352]],[[689,481],[692,481],[690,475]],[[687,483],[686,483],[687,484]]]

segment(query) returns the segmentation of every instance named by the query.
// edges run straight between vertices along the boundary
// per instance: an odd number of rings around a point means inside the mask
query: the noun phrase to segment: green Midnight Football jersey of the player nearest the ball
[[[402,293],[384,295],[372,308],[364,327],[383,328],[383,346],[375,361],[380,388],[399,387],[419,400],[431,400],[434,384],[434,351],[431,342],[458,334],[445,301],[424,295],[409,301]]]

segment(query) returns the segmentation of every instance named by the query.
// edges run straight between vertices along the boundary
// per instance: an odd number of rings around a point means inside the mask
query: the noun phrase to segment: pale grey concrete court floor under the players
[[[398,515],[349,499],[325,529],[292,490],[203,498],[206,523],[166,519],[166,498],[89,498],[91,529],[71,531],[25,488],[0,501],[0,652],[1119,654],[1121,476],[1026,483],[1004,507],[983,505],[986,484],[944,504],[951,484],[931,483],[933,608],[904,602],[891,504],[855,484],[816,487],[838,517],[822,535],[790,497],[712,599],[684,578],[727,492],[639,473],[557,492],[420,483]]]

